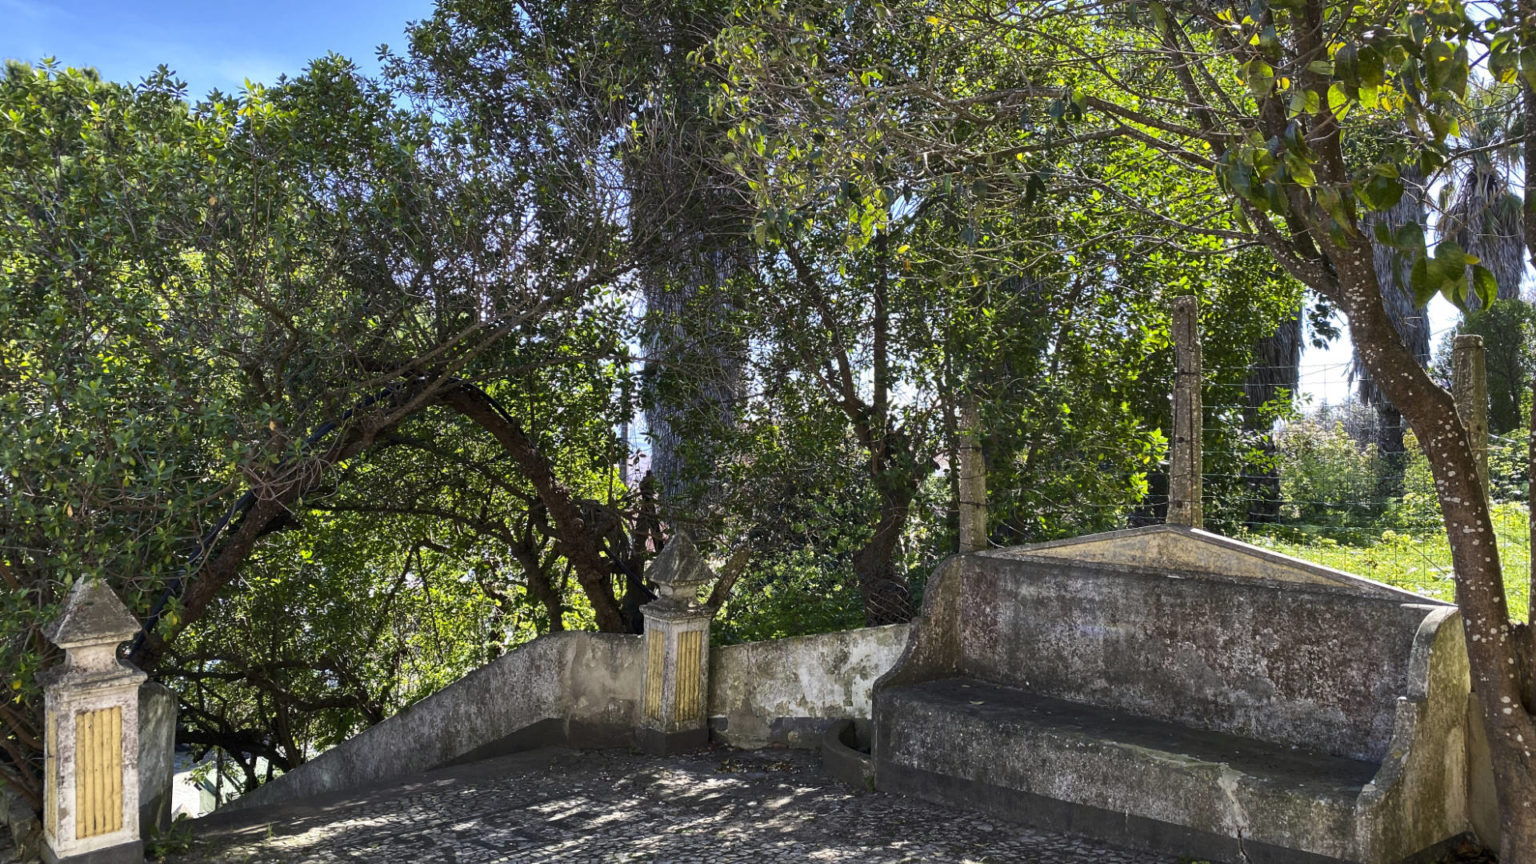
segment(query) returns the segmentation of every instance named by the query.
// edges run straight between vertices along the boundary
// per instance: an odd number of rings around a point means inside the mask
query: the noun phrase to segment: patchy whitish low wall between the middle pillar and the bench
[[[871,687],[908,626],[723,646],[710,666],[710,726],[733,747],[817,747],[834,719],[868,719]]]

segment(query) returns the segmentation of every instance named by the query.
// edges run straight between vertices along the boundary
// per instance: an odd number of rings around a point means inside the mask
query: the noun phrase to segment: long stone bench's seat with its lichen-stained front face
[[[1385,864],[1361,855],[1356,835],[1375,816],[1358,807],[1378,769],[1372,763],[982,681],[929,681],[879,700],[880,789],[888,766],[922,769],[1117,818]]]

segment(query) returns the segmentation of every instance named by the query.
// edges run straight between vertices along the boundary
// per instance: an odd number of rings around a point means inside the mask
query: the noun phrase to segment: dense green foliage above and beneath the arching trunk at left
[[[131,88],[88,71],[8,66],[5,783],[37,793],[37,681],[57,660],[40,633],[77,578],[106,578],[140,616],[157,612],[157,636],[192,627],[158,672],[184,684],[194,738],[237,758],[303,759],[473,667],[485,644],[531,632],[485,601],[499,593],[515,606],[518,566],[490,572],[418,553],[404,567],[398,546],[352,543],[389,537],[396,526],[384,515],[341,527],[324,517],[329,506],[315,507],[339,487],[379,500],[436,475],[435,504],[479,492],[484,506],[492,484],[513,504],[502,512],[536,523],[527,486],[502,480],[504,467],[485,470],[496,457],[481,432],[401,426],[459,375],[539,412],[535,446],[561,454],[564,489],[593,495],[611,483],[593,466],[593,455],[611,464],[608,423],[622,410],[608,358],[621,354],[613,311],[624,300],[599,291],[624,271],[602,221],[611,211],[601,191],[559,174],[565,166],[487,158],[464,123],[425,98],[364,80],[338,57],[197,105],[164,71]],[[579,241],[550,243],[553,231]],[[356,458],[370,446],[415,454],[393,466],[410,481]],[[482,486],[441,483],[453,464],[478,469]],[[252,532],[257,510],[266,515]],[[221,523],[226,532],[209,532]],[[293,529],[310,533],[289,541]],[[441,546],[441,529],[415,533]],[[521,537],[539,563],[548,533],[525,524]],[[252,547],[261,555],[241,573]],[[189,560],[201,572],[184,581]],[[545,564],[554,561],[539,563],[541,575]],[[421,589],[413,616],[379,607],[402,569],[438,583]],[[298,632],[286,609],[295,603]],[[579,626],[582,603],[564,606]],[[372,646],[386,653],[344,653],[369,647],[356,640],[382,612],[401,612]],[[468,632],[439,644],[444,615]],[[422,630],[435,633],[430,646]],[[307,713],[275,732],[290,709]]]

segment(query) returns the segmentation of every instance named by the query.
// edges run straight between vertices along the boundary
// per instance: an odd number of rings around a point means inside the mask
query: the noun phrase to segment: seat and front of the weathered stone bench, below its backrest
[[[1350,835],[1356,803],[1379,769],[968,678],[895,687],[882,698],[889,716],[903,718],[882,729],[882,746],[917,753],[888,767],[886,781],[942,784],[972,807],[1107,839],[1186,826],[1195,830],[1177,842],[1193,856],[1226,858],[1226,844],[1200,835],[1226,833],[1243,813],[1263,815],[1255,833],[1264,846]],[[957,761],[952,746],[923,746],[932,739],[963,741],[965,753]],[[920,767],[925,752],[937,758]]]

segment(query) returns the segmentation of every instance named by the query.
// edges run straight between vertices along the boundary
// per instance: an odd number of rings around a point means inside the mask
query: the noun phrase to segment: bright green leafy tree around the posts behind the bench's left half
[[[931,111],[943,100],[932,94],[978,92],[1011,72],[995,45],[882,5],[768,3],[716,51],[719,111],[737,145],[727,158],[762,211],[771,297],[745,306],[777,309],[754,331],[793,346],[856,438],[911,454],[889,467],[871,460],[903,483],[955,450],[951,417],[977,395],[998,543],[1123,524],[1146,495],[1167,403],[1137,381],[1172,363],[1172,292],[1209,281],[1232,300],[1212,307],[1210,349],[1236,366],[1295,311],[1295,283],[1272,263],[1175,240],[1180,220],[1230,217],[1189,206],[1183,178],[1143,171],[1140,145],[1068,143],[1100,172],[1063,195],[1058,215],[1029,209],[1043,183],[1014,152],[1015,129]],[[1054,128],[1043,112],[1011,121]],[[1172,217],[1127,220],[1117,197],[1130,181],[1163,195]],[[866,437],[860,423],[900,435]],[[915,486],[889,487],[903,497],[886,500],[876,526],[906,524],[900,504]]]

